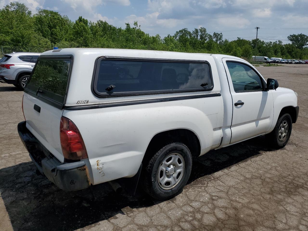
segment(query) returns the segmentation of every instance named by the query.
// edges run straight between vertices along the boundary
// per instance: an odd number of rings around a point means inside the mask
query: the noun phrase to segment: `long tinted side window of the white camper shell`
[[[207,61],[101,57],[93,80],[93,91],[99,97],[212,89]]]

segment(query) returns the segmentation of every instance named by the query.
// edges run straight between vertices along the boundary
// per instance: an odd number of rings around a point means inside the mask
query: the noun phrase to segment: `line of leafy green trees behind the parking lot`
[[[210,34],[201,27],[187,28],[168,34],[150,36],[141,30],[138,22],[125,28],[115,27],[106,21],[88,21],[79,16],[72,22],[67,16],[52,10],[38,9],[35,14],[19,2],[11,2],[0,10],[0,45],[10,47],[102,47],[181,51],[227,54],[251,59],[256,39],[237,38],[228,41],[222,33]],[[285,59],[308,59],[308,36],[292,34],[291,43],[257,40],[257,55]]]

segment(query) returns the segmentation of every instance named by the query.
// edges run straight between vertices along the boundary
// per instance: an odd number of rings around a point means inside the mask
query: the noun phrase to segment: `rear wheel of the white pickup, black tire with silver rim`
[[[169,157],[171,156],[171,157]],[[176,173],[177,171],[177,164],[171,165],[173,162],[170,160],[168,162],[167,160],[169,158],[174,157],[172,160],[175,160],[179,163],[181,160],[184,160],[184,163],[182,165],[184,166],[183,173],[181,172]],[[166,161],[165,161],[166,160]],[[163,161],[164,163],[171,163],[168,165],[168,168],[170,169],[171,175],[164,173],[164,171],[159,169],[165,169],[163,168]],[[158,199],[158,200],[168,200],[172,197],[175,197],[179,193],[182,192],[182,189],[186,185],[188,178],[190,176],[191,170],[192,170],[192,156],[187,148],[187,146],[181,142],[169,142],[168,144],[164,145],[160,150],[158,150],[149,160],[146,160],[146,163],[144,163],[145,168],[143,169],[142,173],[142,186],[144,188],[144,191],[148,193],[151,197]],[[171,168],[170,168],[171,166]],[[173,168],[173,171],[172,171]],[[180,167],[178,167],[180,168]],[[167,168],[166,168],[167,169]],[[179,170],[180,171],[180,170]],[[158,175],[160,174],[160,175]],[[177,174],[177,175],[176,175]],[[180,176],[182,174],[182,176]],[[177,183],[173,185],[167,185],[168,182],[165,183],[165,186],[162,186],[159,182],[159,177],[161,176],[161,179],[163,178],[163,175],[165,175],[165,178],[168,178],[170,176],[171,179],[177,180]],[[179,175],[179,176],[178,176]],[[170,189],[164,189],[163,187],[172,187]]]

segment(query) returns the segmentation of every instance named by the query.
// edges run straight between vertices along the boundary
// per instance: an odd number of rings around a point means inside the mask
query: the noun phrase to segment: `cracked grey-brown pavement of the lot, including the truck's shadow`
[[[0,83],[0,230],[308,230],[308,65],[257,68],[298,92],[287,146],[270,150],[258,137],[212,151],[164,202],[107,183],[64,192],[37,176],[17,133],[22,92]]]

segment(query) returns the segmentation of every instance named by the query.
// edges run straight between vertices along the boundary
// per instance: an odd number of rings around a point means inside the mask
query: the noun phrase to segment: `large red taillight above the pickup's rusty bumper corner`
[[[61,117],[60,141],[63,156],[68,160],[88,158],[86,147],[76,125],[69,119]]]

